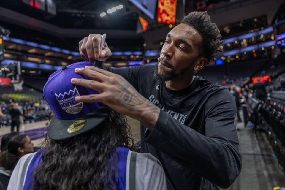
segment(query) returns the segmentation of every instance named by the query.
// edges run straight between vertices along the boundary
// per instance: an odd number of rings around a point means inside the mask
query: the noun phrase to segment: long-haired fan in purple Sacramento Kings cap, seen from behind
[[[137,153],[126,117],[101,103],[76,102],[97,91],[70,83],[80,62],[50,75],[43,94],[53,110],[47,128],[48,145],[24,156],[15,167],[8,189],[164,190],[160,162]],[[25,179],[21,181],[21,179]]]

